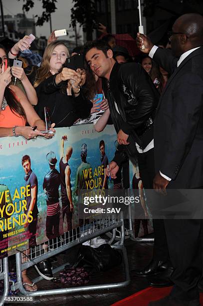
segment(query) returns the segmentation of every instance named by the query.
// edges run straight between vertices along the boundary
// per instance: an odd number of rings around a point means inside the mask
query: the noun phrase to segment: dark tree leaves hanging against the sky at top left
[[[37,17],[37,21],[35,22],[35,24],[36,25],[43,25],[44,22],[49,21],[51,13],[53,13],[57,9],[57,7],[55,5],[57,0],[39,0],[39,1],[42,2],[43,11],[42,11],[42,14],[40,16],[35,15],[35,17]],[[28,11],[35,4],[34,1],[32,1],[32,0],[23,0],[23,2],[25,2],[22,6],[23,11]]]

